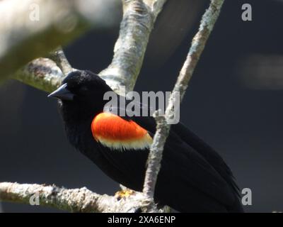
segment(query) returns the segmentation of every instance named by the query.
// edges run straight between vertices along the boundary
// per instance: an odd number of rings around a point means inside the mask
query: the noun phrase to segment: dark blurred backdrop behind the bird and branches
[[[137,91],[171,91],[208,3],[168,0]],[[253,6],[253,21],[241,20],[245,3]],[[282,21],[282,1],[226,1],[181,106],[181,121],[224,157],[241,188],[252,190],[250,212],[283,211]],[[65,48],[71,65],[103,70],[118,31],[91,31],[71,43]],[[0,88],[0,106],[0,182],[86,186],[101,194],[119,189],[71,148],[47,94],[9,81]],[[2,211],[57,210],[3,203]]]

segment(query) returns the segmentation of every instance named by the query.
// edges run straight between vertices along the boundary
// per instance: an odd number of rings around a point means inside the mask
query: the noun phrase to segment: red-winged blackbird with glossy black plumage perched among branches
[[[156,123],[151,117],[103,112],[109,91],[98,75],[78,70],[50,96],[59,99],[70,143],[110,178],[141,191]],[[181,212],[243,211],[229,167],[182,123],[171,127],[154,199]]]

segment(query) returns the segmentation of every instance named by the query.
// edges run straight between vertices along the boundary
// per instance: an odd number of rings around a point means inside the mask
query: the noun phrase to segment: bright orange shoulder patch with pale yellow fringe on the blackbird
[[[152,138],[134,121],[110,113],[98,114],[91,123],[93,138],[114,149],[140,150],[149,148]]]

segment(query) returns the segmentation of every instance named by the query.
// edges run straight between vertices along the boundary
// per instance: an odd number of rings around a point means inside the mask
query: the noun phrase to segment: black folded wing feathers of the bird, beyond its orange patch
[[[154,118],[134,117],[134,121],[154,135],[156,130]],[[188,185],[200,189],[223,204],[233,204],[235,195],[230,184],[235,183],[231,170],[203,141],[198,140],[199,144],[197,144],[196,135],[190,138],[190,135],[186,134],[185,137],[183,131],[180,131],[180,128],[184,130],[183,127],[185,126],[173,125],[171,128],[163,152],[164,171],[168,174],[175,171],[179,175],[178,179],[187,182]]]

